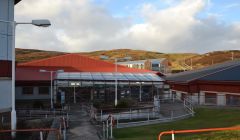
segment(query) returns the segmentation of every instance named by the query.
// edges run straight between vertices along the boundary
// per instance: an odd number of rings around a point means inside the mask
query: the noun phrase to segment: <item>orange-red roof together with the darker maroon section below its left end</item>
[[[115,64],[79,54],[66,54],[18,64],[16,69],[16,80],[50,81],[50,73],[39,72],[40,69],[53,71],[61,69],[65,72],[114,72]],[[152,71],[118,65],[118,72],[145,73]]]

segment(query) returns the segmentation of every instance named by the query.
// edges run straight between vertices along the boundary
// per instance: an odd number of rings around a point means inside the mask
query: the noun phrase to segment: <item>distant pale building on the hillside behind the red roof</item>
[[[147,69],[147,70],[157,71],[161,73],[170,72],[169,62],[166,58],[126,61],[126,62],[118,62],[118,64],[127,66],[129,68]]]

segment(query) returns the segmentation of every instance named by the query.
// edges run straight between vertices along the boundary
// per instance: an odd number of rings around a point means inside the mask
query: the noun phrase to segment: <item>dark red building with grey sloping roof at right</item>
[[[240,105],[240,61],[167,76],[172,96],[200,105]]]

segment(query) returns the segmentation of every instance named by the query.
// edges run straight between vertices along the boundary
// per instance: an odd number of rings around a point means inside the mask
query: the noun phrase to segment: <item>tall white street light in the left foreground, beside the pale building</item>
[[[7,21],[0,20],[3,23],[9,23],[12,26],[12,111],[11,111],[11,129],[16,130],[17,118],[15,110],[15,32],[16,26],[18,24],[32,24],[39,27],[48,27],[51,25],[50,21],[47,19],[41,20],[32,20],[32,22],[16,22],[16,21]],[[12,133],[12,136],[15,137],[15,132]]]

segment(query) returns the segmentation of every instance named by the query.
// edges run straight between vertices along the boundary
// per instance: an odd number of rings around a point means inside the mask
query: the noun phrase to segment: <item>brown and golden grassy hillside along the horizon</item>
[[[20,63],[62,54],[66,53],[32,49],[16,49],[16,59]],[[193,69],[198,69],[212,64],[231,60],[232,56],[234,57],[234,59],[240,58],[240,51],[238,50],[216,51],[209,52],[206,54],[194,54],[194,53],[167,54],[144,50],[116,49],[116,50],[101,50],[94,52],[81,52],[79,54],[87,55],[95,59],[99,59],[100,55],[106,55],[110,58],[109,61],[113,61],[113,58],[125,56],[131,56],[132,60],[167,58],[170,61],[173,70],[182,70],[184,68],[184,65],[186,64],[189,66],[191,66],[192,64]]]

